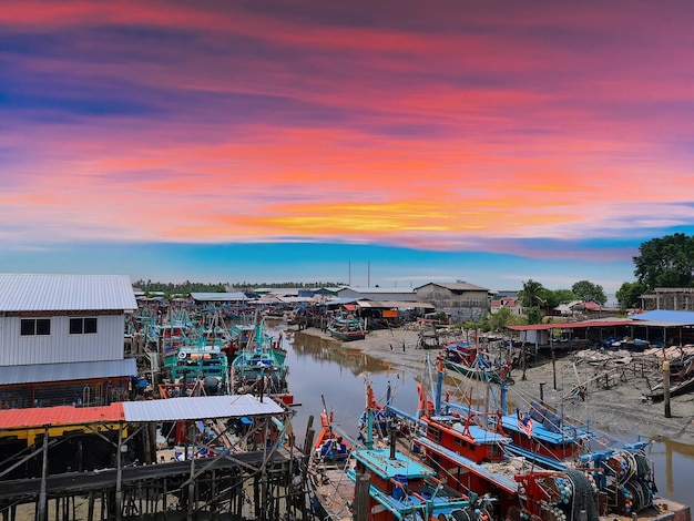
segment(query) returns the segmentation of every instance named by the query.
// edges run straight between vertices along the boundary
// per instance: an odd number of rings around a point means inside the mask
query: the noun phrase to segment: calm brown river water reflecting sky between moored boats
[[[316,432],[320,429],[322,396],[341,430],[356,435],[366,405],[365,376],[371,382],[377,402],[385,402],[390,384],[394,405],[412,415],[416,412],[417,382],[423,375],[392,368],[359,350],[340,347],[339,343],[300,333],[294,335],[286,361],[289,365],[289,389],[295,401],[300,403],[293,420],[299,442],[304,440],[309,416],[314,416]],[[634,437],[626,441],[635,440]],[[664,439],[651,443],[649,451],[659,496],[683,504],[694,503],[694,446]]]

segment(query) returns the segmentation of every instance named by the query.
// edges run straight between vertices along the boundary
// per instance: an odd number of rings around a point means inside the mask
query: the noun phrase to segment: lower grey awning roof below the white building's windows
[[[137,375],[137,362],[134,358],[51,364],[50,366],[45,364],[2,366],[0,367],[0,385],[89,380],[134,375]]]

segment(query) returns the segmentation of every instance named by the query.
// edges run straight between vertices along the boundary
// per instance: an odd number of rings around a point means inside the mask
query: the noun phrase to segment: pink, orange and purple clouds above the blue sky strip
[[[0,24],[94,39],[7,55],[12,69],[59,76],[65,103],[86,92],[151,111],[10,115],[0,137],[21,161],[2,174],[4,216],[65,235],[427,248],[620,233],[646,204],[666,225],[692,218],[677,205],[694,188],[687,18],[448,6],[422,20],[439,32],[154,2],[3,9]],[[106,24],[190,44],[89,31]]]

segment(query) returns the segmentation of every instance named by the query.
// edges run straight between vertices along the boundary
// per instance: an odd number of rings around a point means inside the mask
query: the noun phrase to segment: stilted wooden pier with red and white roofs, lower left
[[[0,461],[0,519],[313,519],[304,487],[307,454],[293,445],[293,436],[272,441],[267,437],[255,450],[235,450],[229,442],[233,437],[217,427],[231,429],[234,419],[253,418],[257,428],[248,431],[248,439],[268,432],[274,420],[288,413],[275,401],[243,395],[114,406],[71,408],[80,411],[79,420],[69,420],[67,411],[55,408],[28,409],[23,415],[0,410],[0,440],[6,446]],[[40,412],[42,426],[31,420]],[[51,412],[63,418],[59,431],[50,421]],[[210,430],[213,439],[206,442],[200,438],[201,418],[215,426]],[[187,426],[190,443],[155,447],[149,433],[161,421]],[[23,448],[8,451],[7,447],[17,443],[17,435],[27,431],[35,436],[25,438]],[[307,437],[312,436],[308,430]],[[221,442],[224,438],[226,441]],[[79,443],[71,442],[78,439]],[[72,456],[74,468],[81,468],[83,454],[95,451],[96,445],[101,452],[112,454],[110,464],[81,471],[65,469],[65,459]],[[76,454],[70,451],[74,447],[79,447]],[[210,450],[212,447],[216,450]],[[133,459],[135,454],[143,458]]]

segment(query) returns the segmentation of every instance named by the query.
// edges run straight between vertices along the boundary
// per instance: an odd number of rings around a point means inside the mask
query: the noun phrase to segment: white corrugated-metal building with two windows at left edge
[[[120,275],[0,274],[0,407],[105,405],[125,399],[123,355],[137,308]]]

